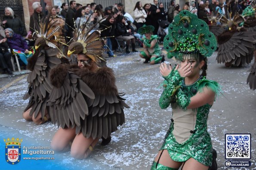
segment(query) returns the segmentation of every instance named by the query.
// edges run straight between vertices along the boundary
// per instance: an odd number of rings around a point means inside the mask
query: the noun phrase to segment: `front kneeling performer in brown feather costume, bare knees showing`
[[[77,54],[78,66],[57,66],[51,72],[50,117],[61,126],[51,146],[56,151],[71,149],[71,156],[79,159],[86,158],[100,138],[110,138],[124,123],[123,108],[129,108],[117,91],[113,70],[98,66],[106,49],[99,31],[89,35],[94,26],[85,24],[69,46],[68,55]]]

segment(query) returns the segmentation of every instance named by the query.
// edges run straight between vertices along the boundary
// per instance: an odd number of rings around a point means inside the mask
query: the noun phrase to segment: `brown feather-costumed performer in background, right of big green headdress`
[[[227,28],[218,36],[217,62],[225,63],[226,67],[250,64],[253,59],[253,45],[255,32],[247,31],[239,25],[244,18],[238,13],[228,13],[228,18],[222,16],[220,22]]]

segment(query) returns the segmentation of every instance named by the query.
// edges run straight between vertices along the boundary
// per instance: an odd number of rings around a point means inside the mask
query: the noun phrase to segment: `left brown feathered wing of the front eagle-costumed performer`
[[[81,121],[89,115],[88,107],[91,104],[88,101],[95,98],[89,86],[69,67],[58,66],[52,70],[51,82],[54,87],[47,104],[52,122],[57,122],[62,128],[79,127]]]

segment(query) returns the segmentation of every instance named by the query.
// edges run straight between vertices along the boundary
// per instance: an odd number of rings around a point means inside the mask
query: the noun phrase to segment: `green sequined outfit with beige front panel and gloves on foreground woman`
[[[207,132],[207,117],[211,105],[205,104],[196,109],[187,109],[190,98],[204,86],[218,93],[219,84],[200,77],[194,84],[185,85],[184,78],[178,71],[172,71],[165,77],[167,83],[159,104],[167,108],[170,104],[173,109],[173,119],[163,141],[162,149],[167,149],[174,161],[183,162],[194,158],[201,164],[212,164],[212,144],[210,134]]]

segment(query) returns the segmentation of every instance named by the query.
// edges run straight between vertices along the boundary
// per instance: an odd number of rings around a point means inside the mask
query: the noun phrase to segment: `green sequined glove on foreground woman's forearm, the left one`
[[[164,77],[167,81],[167,86],[159,99],[159,105],[162,109],[167,108],[171,101],[175,99],[175,93],[179,89],[179,83],[182,81],[178,70],[172,71],[168,76]]]

